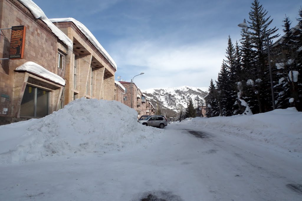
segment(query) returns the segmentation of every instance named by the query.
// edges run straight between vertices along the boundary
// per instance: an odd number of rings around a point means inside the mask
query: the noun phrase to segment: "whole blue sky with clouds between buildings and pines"
[[[146,90],[208,88],[217,80],[228,36],[240,40],[237,24],[248,19],[253,0],[34,0],[48,18],[73,17],[84,24],[117,64],[118,76]],[[300,0],[260,0],[271,27],[292,26]]]

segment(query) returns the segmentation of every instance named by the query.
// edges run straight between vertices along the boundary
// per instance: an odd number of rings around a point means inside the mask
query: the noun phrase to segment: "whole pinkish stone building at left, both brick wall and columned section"
[[[116,65],[99,43],[22,2],[0,0],[0,125],[44,117],[76,98],[114,100]],[[23,40],[11,37],[21,26]]]

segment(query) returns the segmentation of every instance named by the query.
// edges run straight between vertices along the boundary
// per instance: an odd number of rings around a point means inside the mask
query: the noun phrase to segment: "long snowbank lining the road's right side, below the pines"
[[[177,124],[203,127],[209,131],[261,141],[294,152],[302,152],[302,112],[296,108],[275,109],[255,115],[231,117],[192,118]]]

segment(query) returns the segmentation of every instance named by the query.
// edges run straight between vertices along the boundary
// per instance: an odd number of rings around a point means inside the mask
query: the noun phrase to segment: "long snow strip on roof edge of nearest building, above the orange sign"
[[[31,0],[18,0],[21,4],[23,4],[37,19],[42,20],[47,24],[47,26],[51,29],[51,31],[62,41],[64,42],[69,48],[72,48],[72,41],[69,39],[58,27],[56,27],[44,14],[42,9],[37,6]]]

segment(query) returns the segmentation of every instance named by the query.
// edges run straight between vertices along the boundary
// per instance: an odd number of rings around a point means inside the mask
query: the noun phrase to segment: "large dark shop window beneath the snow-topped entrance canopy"
[[[26,85],[20,107],[20,116],[45,117],[48,115],[49,92]]]

